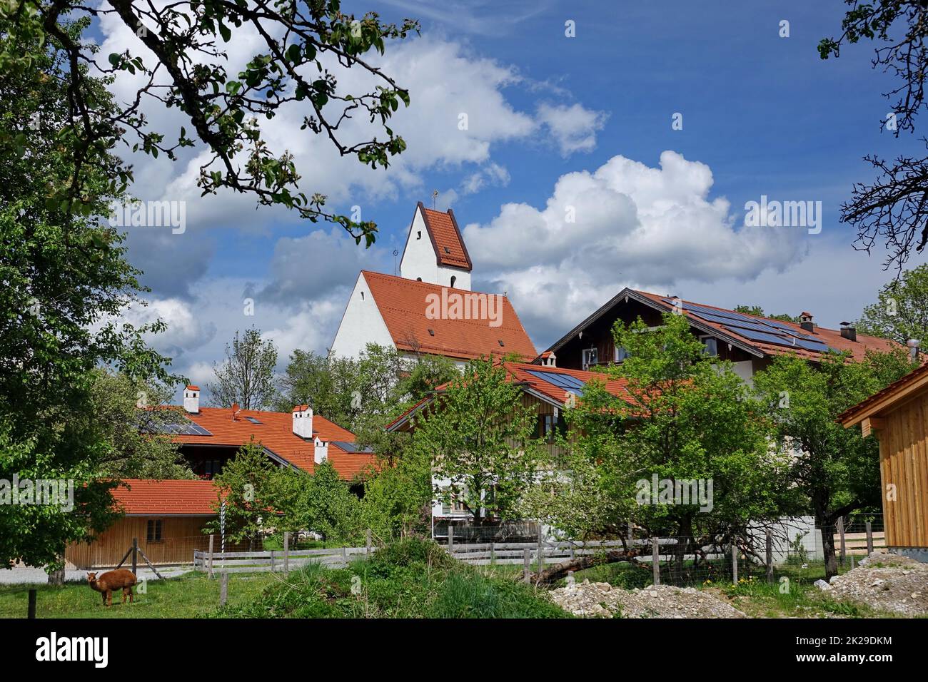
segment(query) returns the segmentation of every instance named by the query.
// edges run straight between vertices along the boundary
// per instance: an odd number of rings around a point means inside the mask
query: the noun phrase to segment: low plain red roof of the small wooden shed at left
[[[152,481],[126,479],[112,490],[117,506],[126,514],[213,515],[219,498],[212,481]]]

